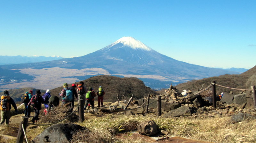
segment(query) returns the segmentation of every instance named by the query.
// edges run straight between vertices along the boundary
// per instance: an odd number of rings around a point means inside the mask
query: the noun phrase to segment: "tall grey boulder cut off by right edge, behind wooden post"
[[[256,86],[256,74],[252,75],[246,82],[246,89],[252,89],[252,86]],[[253,108],[253,96],[252,91],[246,91],[246,108]]]

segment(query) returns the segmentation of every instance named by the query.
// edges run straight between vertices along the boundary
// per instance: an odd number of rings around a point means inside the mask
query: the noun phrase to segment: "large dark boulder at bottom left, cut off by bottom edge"
[[[36,136],[34,143],[68,143],[78,131],[88,130],[77,124],[54,124]],[[89,131],[89,130],[88,130]]]

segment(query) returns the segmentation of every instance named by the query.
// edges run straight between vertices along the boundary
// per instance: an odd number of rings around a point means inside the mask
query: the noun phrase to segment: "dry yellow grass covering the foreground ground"
[[[68,107],[66,107],[68,108]],[[65,106],[59,106],[52,110],[49,115],[41,117],[40,124],[56,122],[69,113],[66,113]],[[75,107],[76,108],[76,107]],[[76,113],[76,112],[75,112]],[[86,114],[87,115],[87,114]],[[135,130],[142,121],[152,119],[161,128],[170,133],[171,136],[187,137],[198,140],[206,140],[216,143],[255,143],[256,142],[256,120],[243,121],[236,124],[229,122],[230,117],[222,118],[192,118],[172,117],[163,118],[155,115],[146,116],[124,116],[108,114],[103,117],[92,117],[83,123],[77,120],[66,119],[61,123],[73,122],[84,126],[90,132],[78,132],[73,135],[72,142],[93,142],[93,143],[144,143],[140,138],[135,140],[117,139],[117,133],[126,133]],[[49,126],[29,125],[27,128],[28,139],[32,140]],[[95,138],[97,136],[97,138]],[[10,142],[15,142],[11,140]]]

